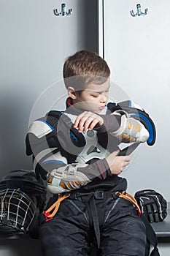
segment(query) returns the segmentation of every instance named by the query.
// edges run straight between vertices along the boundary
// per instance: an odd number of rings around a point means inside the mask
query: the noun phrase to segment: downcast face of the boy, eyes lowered
[[[110,78],[101,85],[90,83],[80,94],[75,92],[73,99],[74,106],[85,111],[100,113],[107,105],[109,94]]]

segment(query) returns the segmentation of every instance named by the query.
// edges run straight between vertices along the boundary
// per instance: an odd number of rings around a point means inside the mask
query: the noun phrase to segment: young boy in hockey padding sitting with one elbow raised
[[[94,243],[97,255],[144,256],[144,223],[134,205],[115,192],[127,188],[119,174],[131,161],[118,155],[117,145],[144,143],[149,132],[123,109],[127,102],[121,108],[107,104],[110,70],[96,53],[69,56],[63,78],[66,110],[34,121],[26,138],[27,154],[33,154],[36,175],[47,180],[47,189],[55,199],[69,192],[40,227],[42,255],[87,256]]]

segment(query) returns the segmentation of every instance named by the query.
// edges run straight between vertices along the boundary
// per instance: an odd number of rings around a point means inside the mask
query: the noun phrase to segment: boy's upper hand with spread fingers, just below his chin
[[[85,111],[77,116],[74,121],[74,128],[78,129],[78,132],[87,132],[88,129],[91,130],[94,127],[101,126],[104,123],[104,120],[101,116],[96,115],[90,111]]]

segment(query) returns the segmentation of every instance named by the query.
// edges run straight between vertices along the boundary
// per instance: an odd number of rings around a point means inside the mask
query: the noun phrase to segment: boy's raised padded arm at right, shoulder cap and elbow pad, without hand
[[[107,107],[107,115],[102,116],[104,124],[95,127],[98,132],[109,132],[123,143],[147,141],[149,146],[155,143],[155,124],[139,105],[127,100],[117,104],[109,102]]]

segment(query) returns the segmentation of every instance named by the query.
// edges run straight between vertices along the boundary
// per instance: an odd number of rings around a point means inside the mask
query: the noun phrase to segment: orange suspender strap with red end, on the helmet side
[[[56,200],[55,203],[53,203],[52,206],[50,206],[50,208],[48,208],[46,211],[43,211],[42,214],[45,215],[45,221],[48,222],[49,220],[53,219],[53,217],[55,216],[55,214],[58,211],[58,208],[61,204],[61,202],[66,199],[67,197],[69,197],[70,194],[65,194],[65,195],[58,195],[58,200]],[[51,212],[52,211],[52,212]]]

